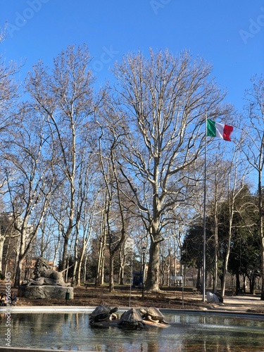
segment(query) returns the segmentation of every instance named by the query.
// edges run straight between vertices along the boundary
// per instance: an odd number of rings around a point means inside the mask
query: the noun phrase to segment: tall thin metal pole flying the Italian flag
[[[206,301],[206,144],[207,144],[207,110],[206,142],[204,146],[204,182],[203,182],[203,302]]]

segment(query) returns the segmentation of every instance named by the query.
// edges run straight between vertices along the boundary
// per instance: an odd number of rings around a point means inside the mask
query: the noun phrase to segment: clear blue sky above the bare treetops
[[[213,64],[227,101],[241,111],[250,78],[263,73],[263,0],[1,0],[0,27],[5,23],[1,54],[25,61],[21,80],[70,44],[87,44],[99,84],[111,80],[109,68],[128,51],[188,49]]]

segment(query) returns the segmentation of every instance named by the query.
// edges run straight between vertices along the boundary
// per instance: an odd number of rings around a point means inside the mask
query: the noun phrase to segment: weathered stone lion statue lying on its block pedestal
[[[51,269],[50,265],[42,257],[37,258],[33,274],[34,279],[30,279],[27,286],[68,286],[68,284],[65,284],[62,273]]]

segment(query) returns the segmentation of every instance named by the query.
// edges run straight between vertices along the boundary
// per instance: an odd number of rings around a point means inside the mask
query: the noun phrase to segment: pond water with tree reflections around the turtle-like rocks
[[[11,346],[108,352],[264,351],[263,320],[164,314],[170,327],[137,331],[90,327],[88,313],[12,313]],[[5,316],[0,320],[0,346],[5,346]]]

